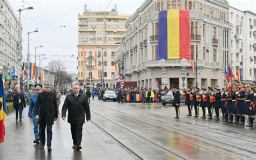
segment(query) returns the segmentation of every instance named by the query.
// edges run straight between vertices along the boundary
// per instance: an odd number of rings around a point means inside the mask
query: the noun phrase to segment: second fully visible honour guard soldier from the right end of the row
[[[241,83],[238,86],[238,95],[237,95],[237,115],[241,117],[240,125],[245,125],[245,84]]]

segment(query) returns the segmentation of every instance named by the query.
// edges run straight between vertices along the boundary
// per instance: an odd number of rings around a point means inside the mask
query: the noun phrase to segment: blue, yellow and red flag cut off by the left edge
[[[7,110],[4,96],[3,78],[0,77],[0,143],[4,142],[5,127],[4,121],[7,119]]]

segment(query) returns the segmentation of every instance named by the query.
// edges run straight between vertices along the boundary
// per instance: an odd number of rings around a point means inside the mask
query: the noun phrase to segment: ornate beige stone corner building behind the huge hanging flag
[[[191,62],[197,58],[198,86],[223,86],[231,59],[228,8],[226,1],[145,1],[125,23],[125,81],[137,81],[139,87],[196,86]],[[191,60],[157,60],[158,12],[169,9],[190,10]]]

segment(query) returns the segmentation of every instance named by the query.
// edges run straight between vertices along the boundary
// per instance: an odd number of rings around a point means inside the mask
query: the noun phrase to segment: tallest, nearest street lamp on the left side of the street
[[[18,47],[19,47],[19,51],[18,51],[18,63],[21,62],[21,59],[22,59],[22,47],[21,47],[21,44],[22,44],[22,37],[21,37],[21,11],[24,11],[24,10],[31,10],[33,9],[32,6],[30,6],[29,8],[24,8],[24,9],[19,9],[17,10],[19,12],[19,27],[18,27]],[[19,66],[19,65],[18,65]],[[19,67],[18,67],[19,68]],[[18,86],[20,84],[20,69],[18,69]]]

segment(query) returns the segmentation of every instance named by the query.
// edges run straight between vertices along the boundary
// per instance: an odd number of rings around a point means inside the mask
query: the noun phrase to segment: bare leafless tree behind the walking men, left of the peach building
[[[59,81],[60,74],[65,71],[65,66],[63,62],[60,60],[52,60],[49,62],[47,68],[49,71],[54,73],[54,88],[57,86],[57,82]]]

